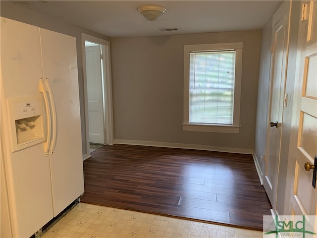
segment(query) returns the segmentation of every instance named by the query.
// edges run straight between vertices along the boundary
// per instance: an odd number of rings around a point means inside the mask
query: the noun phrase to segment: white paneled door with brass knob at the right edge
[[[306,4],[306,19],[300,22],[299,29],[299,78],[295,82],[289,150],[288,176],[291,179],[287,186],[291,187],[291,194],[288,212],[317,215],[317,190],[312,186],[314,170],[308,172],[304,168],[306,162],[314,165],[317,155],[317,1],[302,3]]]

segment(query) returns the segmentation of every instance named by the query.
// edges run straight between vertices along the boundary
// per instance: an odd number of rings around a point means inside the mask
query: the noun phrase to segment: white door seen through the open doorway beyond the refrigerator
[[[86,46],[89,142],[105,144],[104,97],[100,46]]]

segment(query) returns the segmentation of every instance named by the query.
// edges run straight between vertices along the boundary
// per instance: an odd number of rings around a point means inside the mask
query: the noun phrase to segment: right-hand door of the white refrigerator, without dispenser
[[[84,192],[76,39],[45,29],[40,35],[43,75],[52,88],[57,118],[55,148],[50,148],[56,216]]]

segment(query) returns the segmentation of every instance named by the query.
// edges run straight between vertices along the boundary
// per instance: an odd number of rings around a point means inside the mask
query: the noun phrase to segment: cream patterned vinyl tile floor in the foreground
[[[78,203],[42,238],[260,238],[262,232]]]

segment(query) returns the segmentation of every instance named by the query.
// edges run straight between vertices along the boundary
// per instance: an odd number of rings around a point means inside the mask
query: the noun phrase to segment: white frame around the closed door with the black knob
[[[298,27],[299,19],[301,15],[301,2],[300,1],[284,1],[275,11],[273,15],[272,25],[277,20],[277,15],[281,12],[288,12],[288,52],[287,52],[287,69],[285,75],[285,88],[284,93],[288,95],[286,107],[283,107],[283,120],[282,120],[282,135],[281,135],[281,147],[280,147],[280,165],[278,172],[278,187],[276,197],[276,209],[272,209],[272,215],[290,215],[288,213],[289,207],[289,194],[290,187],[288,181],[291,179],[288,174],[288,166],[292,164],[290,160],[289,148],[290,148],[290,133],[291,133],[291,118],[293,115],[293,100],[294,100],[294,85],[296,81],[296,62],[297,62],[297,47],[298,47]],[[274,18],[275,17],[275,18]],[[276,20],[274,20],[276,19]],[[272,40],[273,42],[273,35]],[[271,65],[270,65],[271,66]],[[270,69],[270,74],[272,70]],[[269,77],[269,93],[271,92],[271,75]],[[268,106],[270,105],[270,95],[268,98]],[[270,122],[270,111],[267,112],[267,130],[269,130]],[[267,145],[269,142],[269,131],[267,131],[266,142],[265,142],[265,157],[267,156]],[[264,157],[264,158],[265,158]],[[265,158],[266,159],[266,158]],[[264,162],[266,163],[266,162]],[[264,168],[265,168],[264,164]],[[263,179],[264,176],[263,176]]]

